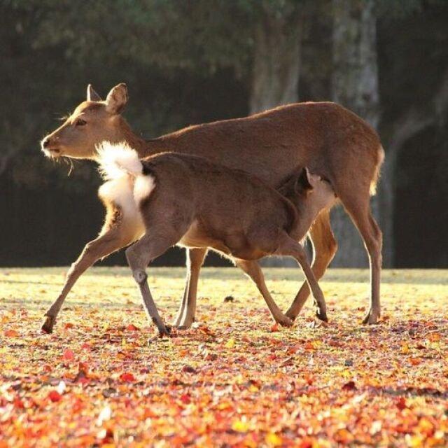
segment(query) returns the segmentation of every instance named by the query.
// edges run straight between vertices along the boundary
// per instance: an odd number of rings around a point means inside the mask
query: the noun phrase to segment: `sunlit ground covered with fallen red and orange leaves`
[[[299,269],[265,271],[286,309]],[[172,321],[184,270],[148,273]],[[0,269],[1,448],[448,446],[448,271],[385,271],[365,326],[368,272],[332,269],[330,323],[307,304],[283,329],[236,268],[206,268],[195,328],[153,342],[125,267],[90,270],[41,334],[63,279]]]

